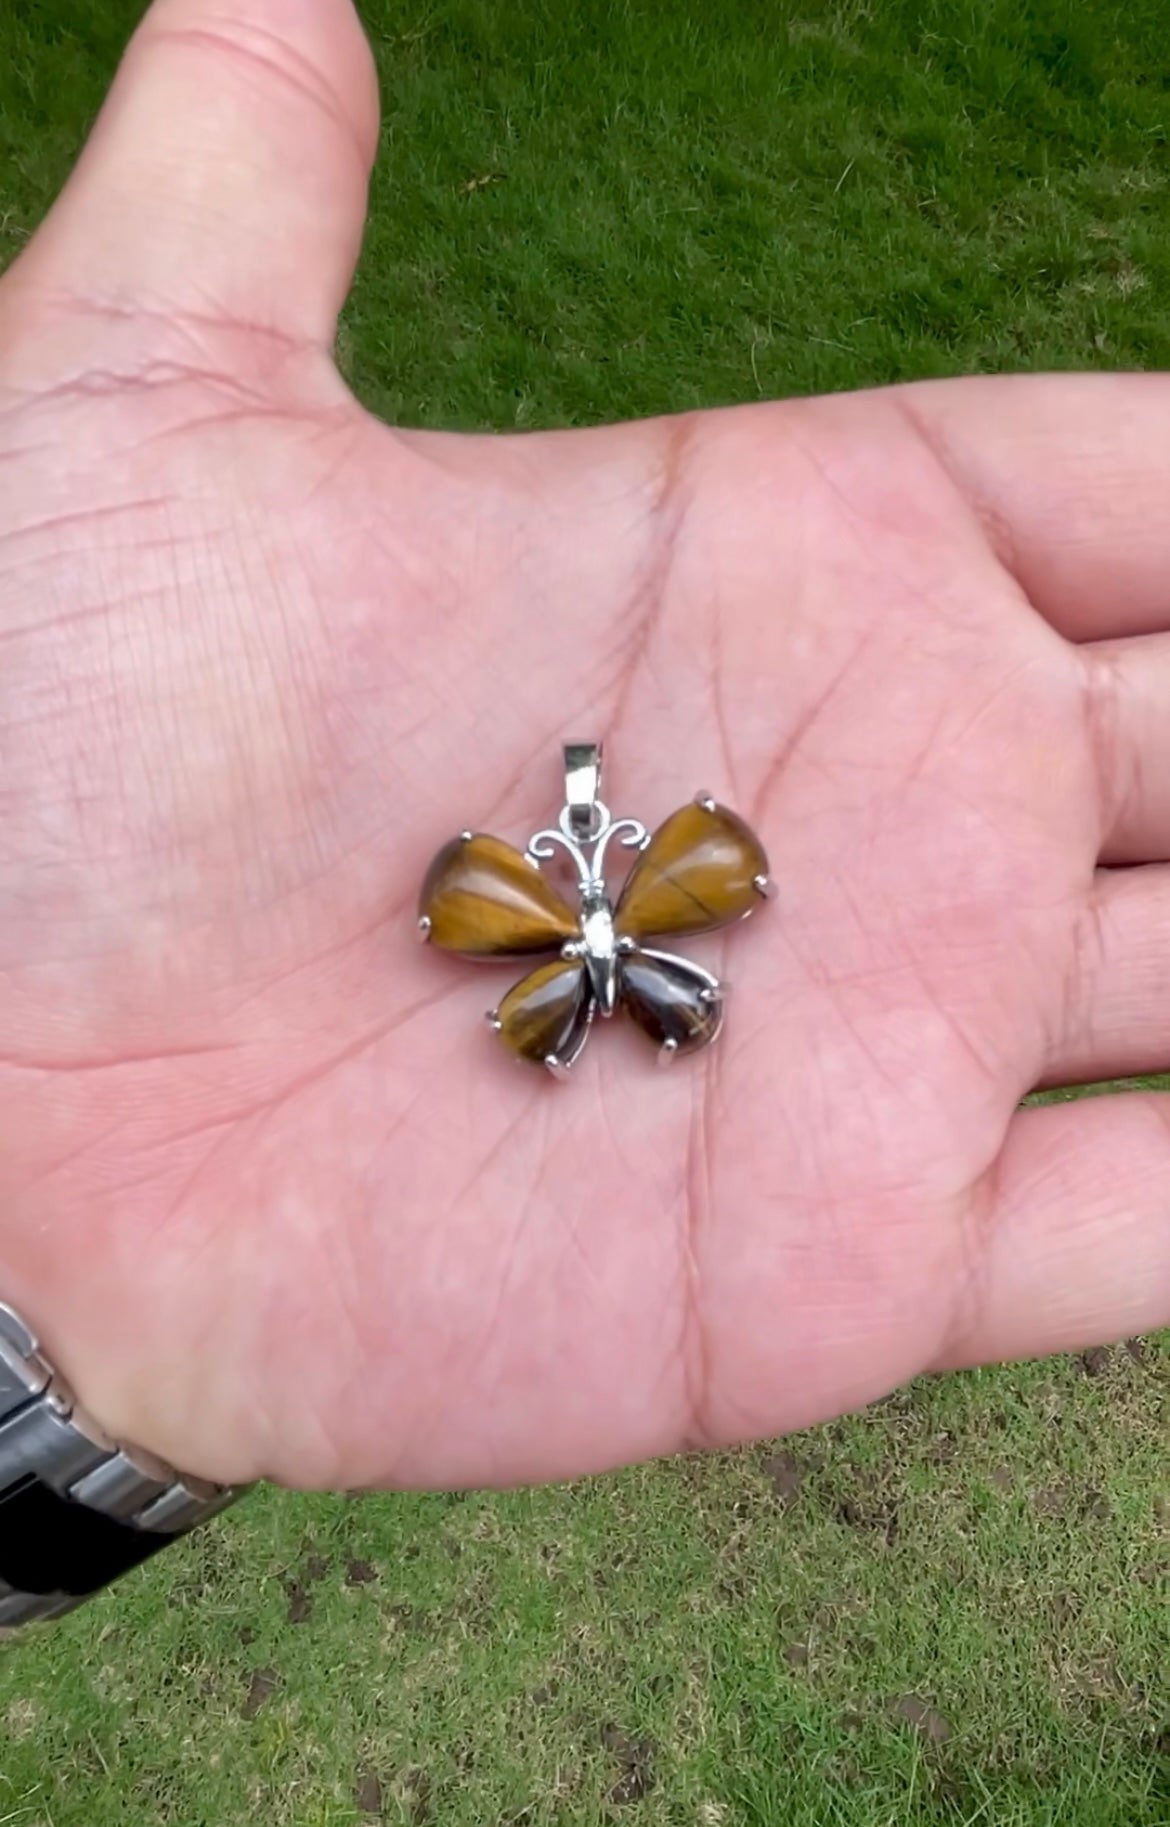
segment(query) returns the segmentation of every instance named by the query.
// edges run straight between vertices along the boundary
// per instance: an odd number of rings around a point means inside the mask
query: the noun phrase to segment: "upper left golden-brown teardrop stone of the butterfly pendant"
[[[444,844],[422,882],[419,919],[430,943],[464,957],[552,952],[578,935],[572,908],[519,850],[499,837]]]

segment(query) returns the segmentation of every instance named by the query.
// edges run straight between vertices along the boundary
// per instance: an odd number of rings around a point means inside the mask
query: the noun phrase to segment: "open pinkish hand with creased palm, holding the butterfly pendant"
[[[1165,382],[397,433],[375,130],[342,0],[159,0],[0,281],[0,1286],[108,1429],[329,1485],[1165,1323],[1163,1100],[1018,1113],[1170,1065]],[[781,893],[689,946],[718,1047],[559,1087],[415,895],[590,734]]]

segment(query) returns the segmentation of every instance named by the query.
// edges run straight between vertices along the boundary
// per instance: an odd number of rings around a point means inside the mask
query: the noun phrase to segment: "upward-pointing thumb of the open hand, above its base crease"
[[[155,0],[13,278],[329,343],[377,128],[349,0]]]

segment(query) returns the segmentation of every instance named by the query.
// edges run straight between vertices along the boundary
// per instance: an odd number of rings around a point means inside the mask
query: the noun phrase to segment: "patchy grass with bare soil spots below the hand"
[[[0,1820],[1165,1827],[1170,1354],[1090,1367],[779,1460],[256,1496],[5,1650]]]

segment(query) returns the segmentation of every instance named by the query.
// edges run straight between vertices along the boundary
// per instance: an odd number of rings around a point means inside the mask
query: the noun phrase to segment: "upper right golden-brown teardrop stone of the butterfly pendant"
[[[682,806],[660,824],[622,890],[614,926],[631,939],[711,932],[750,914],[764,846],[726,806]]]

